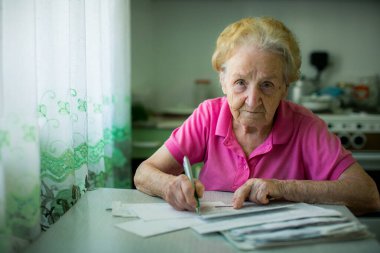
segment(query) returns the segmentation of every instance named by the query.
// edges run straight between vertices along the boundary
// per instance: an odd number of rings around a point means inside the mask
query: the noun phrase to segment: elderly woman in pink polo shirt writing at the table
[[[196,200],[182,159],[204,162],[196,181],[204,190],[234,192],[267,204],[272,198],[344,204],[354,213],[380,209],[376,184],[326,124],[285,100],[299,78],[301,58],[289,29],[272,18],[246,18],[220,34],[212,64],[225,97],[206,100],[165,144],[138,167],[138,190],[177,210]]]

